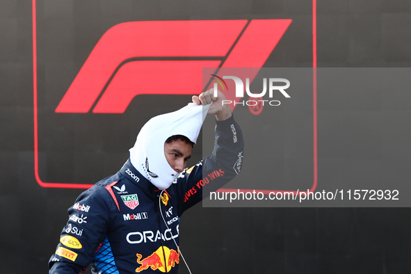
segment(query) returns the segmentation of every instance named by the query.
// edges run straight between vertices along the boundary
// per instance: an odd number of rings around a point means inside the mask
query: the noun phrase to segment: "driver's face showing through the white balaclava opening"
[[[187,160],[191,157],[191,150],[193,150],[193,145],[180,139],[164,144],[164,154],[168,164],[176,172],[183,172],[186,168]]]

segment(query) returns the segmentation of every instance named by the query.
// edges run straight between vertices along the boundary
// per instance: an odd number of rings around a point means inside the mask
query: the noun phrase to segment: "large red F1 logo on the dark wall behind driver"
[[[118,24],[97,42],[56,113],[88,113],[92,106],[93,113],[124,113],[137,95],[193,95],[204,88],[203,67],[262,67],[290,24],[291,19]]]

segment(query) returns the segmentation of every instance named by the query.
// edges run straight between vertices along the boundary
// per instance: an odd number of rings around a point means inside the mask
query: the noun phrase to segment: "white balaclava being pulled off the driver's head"
[[[178,111],[150,119],[141,128],[134,147],[130,149],[134,168],[161,190],[171,186],[179,172],[168,164],[164,143],[174,135],[186,136],[195,143],[210,106],[189,104]]]

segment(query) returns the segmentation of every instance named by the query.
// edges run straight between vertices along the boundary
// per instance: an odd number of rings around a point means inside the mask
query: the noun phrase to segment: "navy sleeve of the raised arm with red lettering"
[[[179,215],[232,180],[243,163],[243,134],[234,116],[216,121],[216,139],[210,156],[185,170],[174,184]]]

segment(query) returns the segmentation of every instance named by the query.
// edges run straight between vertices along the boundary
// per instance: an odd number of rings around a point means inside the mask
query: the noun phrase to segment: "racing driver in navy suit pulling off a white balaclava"
[[[49,274],[78,274],[88,266],[95,274],[177,273],[184,259],[180,216],[241,170],[243,136],[224,99],[207,90],[148,121],[120,171],[68,209]],[[207,113],[216,116],[213,152],[186,169]]]

